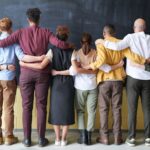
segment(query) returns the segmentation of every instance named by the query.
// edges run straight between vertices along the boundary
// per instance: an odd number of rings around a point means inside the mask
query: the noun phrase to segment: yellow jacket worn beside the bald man
[[[114,37],[109,37],[107,40],[111,42],[117,42],[118,39]],[[115,65],[118,64],[124,57],[127,57],[131,61],[134,61],[138,64],[144,64],[145,58],[139,56],[138,54],[133,53],[130,49],[124,49],[122,51],[113,51],[105,48],[101,44],[97,45],[97,59],[94,63],[91,63],[90,66],[93,70],[98,69],[103,64]],[[102,81],[108,80],[123,80],[126,74],[123,67],[120,67],[116,70],[112,70],[109,73],[105,73],[101,70],[97,74],[97,84]]]

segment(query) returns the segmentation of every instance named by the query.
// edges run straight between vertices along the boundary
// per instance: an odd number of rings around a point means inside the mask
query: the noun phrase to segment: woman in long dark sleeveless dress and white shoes
[[[67,26],[58,26],[56,29],[57,38],[67,41],[69,29]],[[52,69],[63,71],[69,69],[71,65],[71,55],[73,49],[64,51],[58,47],[51,47],[46,58],[41,63],[24,63],[24,67],[33,69],[43,69],[49,62]],[[56,139],[56,146],[67,144],[67,133],[69,125],[74,124],[74,81],[72,76],[56,75],[52,78],[50,94],[49,123],[53,125]],[[62,135],[61,135],[62,128]]]

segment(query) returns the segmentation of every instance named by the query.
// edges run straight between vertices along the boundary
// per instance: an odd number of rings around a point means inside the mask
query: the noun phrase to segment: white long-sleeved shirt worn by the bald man
[[[119,42],[105,41],[104,46],[112,50],[123,50],[129,47],[134,53],[144,58],[150,57],[150,35],[144,32],[128,34]],[[150,80],[150,72],[145,71],[144,68],[131,65],[129,59],[127,59],[126,73],[135,79]]]

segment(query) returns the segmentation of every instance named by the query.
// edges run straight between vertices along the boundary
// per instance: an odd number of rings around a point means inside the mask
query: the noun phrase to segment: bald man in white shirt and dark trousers
[[[145,57],[150,57],[150,35],[145,34],[146,22],[138,18],[134,22],[134,33],[128,34],[119,42],[104,41],[99,39],[96,43],[103,44],[112,50],[122,50],[129,47],[133,52]],[[138,99],[141,98],[144,113],[145,145],[150,146],[150,72],[143,67],[131,65],[127,59],[127,99],[128,99],[128,138],[126,143],[129,146],[136,144],[136,118]]]

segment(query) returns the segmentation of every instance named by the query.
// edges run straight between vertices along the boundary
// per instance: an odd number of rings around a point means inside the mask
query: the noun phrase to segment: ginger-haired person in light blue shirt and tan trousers
[[[0,20],[0,40],[7,38],[12,33],[12,21],[9,18]],[[19,45],[14,44],[0,48],[0,144],[3,142],[11,145],[18,142],[14,136],[14,103],[16,95],[16,56],[25,62],[42,61],[41,56],[25,55]],[[43,57],[44,58],[44,57]],[[4,134],[2,134],[2,114],[4,116]]]

